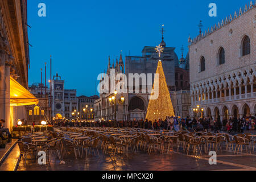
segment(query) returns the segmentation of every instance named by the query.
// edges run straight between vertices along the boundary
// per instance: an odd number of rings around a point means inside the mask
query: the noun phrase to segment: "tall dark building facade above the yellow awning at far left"
[[[24,106],[14,106],[10,115],[10,76],[28,88],[30,60],[26,23],[26,0],[0,1],[0,118],[6,120],[6,127],[10,127],[12,119],[27,118]]]

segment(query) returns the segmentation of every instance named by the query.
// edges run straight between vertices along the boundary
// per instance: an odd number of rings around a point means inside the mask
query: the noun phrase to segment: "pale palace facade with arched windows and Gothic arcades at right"
[[[253,2],[195,39],[189,38],[191,115],[243,117],[256,113],[256,8]]]

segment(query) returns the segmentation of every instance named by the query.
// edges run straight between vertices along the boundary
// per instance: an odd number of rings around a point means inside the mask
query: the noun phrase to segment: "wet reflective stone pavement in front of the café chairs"
[[[256,171],[256,152],[252,154],[238,153],[235,155],[231,151],[217,153],[217,165],[210,165],[208,155],[193,156],[183,153],[171,152],[170,154],[147,155],[140,152],[137,155],[124,157],[116,155],[89,156],[85,159],[75,159],[73,154],[69,154],[64,159],[65,164],[60,164],[53,154],[50,154],[47,165],[39,165],[37,162],[28,160],[24,164],[20,160],[19,171],[209,171],[209,170],[253,170]]]

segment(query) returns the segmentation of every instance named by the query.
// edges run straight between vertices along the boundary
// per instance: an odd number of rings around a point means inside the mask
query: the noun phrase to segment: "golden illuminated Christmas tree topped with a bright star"
[[[156,47],[159,57],[161,52],[163,52],[162,46]],[[150,101],[147,107],[146,119],[148,121],[154,122],[155,119],[158,120],[162,118],[166,119],[167,116],[174,116],[174,107],[172,107],[172,101],[170,98],[170,92],[166,84],[166,77],[164,76],[164,71],[162,67],[162,61],[158,61],[158,68],[156,69],[156,74],[159,75],[159,79],[155,79],[152,92],[150,95]],[[159,85],[158,98],[152,99],[155,95],[154,89],[155,85]],[[155,90],[157,91],[157,90]]]

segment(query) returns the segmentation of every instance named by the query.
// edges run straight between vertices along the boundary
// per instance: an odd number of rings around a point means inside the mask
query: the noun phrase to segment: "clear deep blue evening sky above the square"
[[[46,17],[38,16],[38,4],[46,4]],[[208,15],[209,3],[217,4],[217,17]],[[182,1],[87,1],[87,0],[28,0],[30,47],[29,84],[40,82],[40,68],[52,55],[52,76],[57,73],[65,80],[66,89],[77,89],[77,96],[96,93],[99,73],[106,71],[108,56],[116,59],[122,50],[125,56],[141,56],[144,46],[161,42],[160,28],[166,30],[167,47],[184,45],[187,55],[188,36],[203,32],[221,19],[229,17],[250,0],[182,0]],[[237,12],[238,13],[238,12]],[[44,70],[44,69],[43,69]],[[43,71],[44,75],[44,71]],[[43,79],[44,80],[44,79]]]

